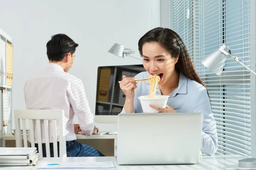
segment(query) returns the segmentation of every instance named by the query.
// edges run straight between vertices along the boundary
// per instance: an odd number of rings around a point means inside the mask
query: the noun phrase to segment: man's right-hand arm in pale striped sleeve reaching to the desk
[[[81,80],[71,85],[69,96],[70,105],[79,119],[82,133],[91,135],[94,129],[93,114],[90,111],[89,103],[84,91],[84,85]]]

